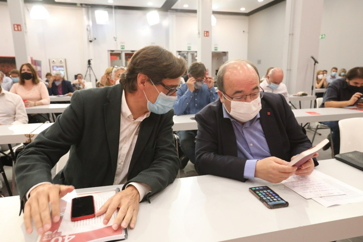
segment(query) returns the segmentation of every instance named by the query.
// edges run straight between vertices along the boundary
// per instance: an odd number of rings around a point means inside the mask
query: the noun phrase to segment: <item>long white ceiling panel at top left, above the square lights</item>
[[[148,7],[160,8],[166,0],[113,0],[109,3],[108,0],[54,0],[58,3],[81,3],[81,4],[99,4],[99,5],[115,5],[127,7]],[[152,3],[148,5],[147,3]]]

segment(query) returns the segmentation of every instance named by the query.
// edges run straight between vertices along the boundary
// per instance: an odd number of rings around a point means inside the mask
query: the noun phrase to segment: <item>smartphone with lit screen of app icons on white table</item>
[[[282,199],[268,186],[250,187],[249,191],[269,209],[289,206],[288,202]]]

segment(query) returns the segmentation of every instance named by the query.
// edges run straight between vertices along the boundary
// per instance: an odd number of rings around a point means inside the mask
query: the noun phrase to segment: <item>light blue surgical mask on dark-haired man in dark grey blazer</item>
[[[151,81],[151,79],[150,79]],[[156,86],[154,85],[154,83],[151,81],[152,85],[155,87],[156,91],[158,91],[158,89],[156,88]],[[159,91],[158,91],[159,92]],[[144,91],[144,95],[146,97],[145,91]],[[176,101],[176,96],[166,96],[164,93],[159,92],[159,96],[158,98],[156,98],[156,101],[154,104],[152,104],[146,97],[147,100],[147,109],[150,112],[156,113],[156,114],[164,114],[169,112]]]

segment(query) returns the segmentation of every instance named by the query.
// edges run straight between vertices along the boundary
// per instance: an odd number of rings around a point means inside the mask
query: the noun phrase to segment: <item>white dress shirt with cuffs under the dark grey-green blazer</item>
[[[122,92],[120,139],[118,146],[117,167],[113,185],[125,184],[127,182],[127,173],[129,172],[131,157],[132,153],[134,152],[140,125],[145,118],[149,117],[149,115],[150,112],[146,112],[143,116],[140,116],[134,120],[129,106],[127,106],[125,92]],[[26,193],[26,198],[29,198],[30,191],[32,191],[35,187],[45,183],[50,184],[50,182],[41,182],[32,186]],[[140,202],[147,193],[151,192],[151,187],[145,183],[130,182],[126,187],[130,185],[135,186],[139,191]]]

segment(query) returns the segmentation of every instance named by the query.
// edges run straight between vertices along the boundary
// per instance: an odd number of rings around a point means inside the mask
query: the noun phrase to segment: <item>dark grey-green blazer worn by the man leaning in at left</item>
[[[122,91],[118,84],[74,92],[71,105],[56,122],[19,154],[15,174],[20,198],[30,187],[45,181],[76,189],[113,185]],[[162,115],[150,113],[140,125],[125,186],[130,182],[150,185],[149,202],[151,195],[174,181],[179,170],[173,116],[174,109]],[[68,150],[67,164],[52,181],[50,170]]]

